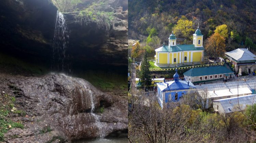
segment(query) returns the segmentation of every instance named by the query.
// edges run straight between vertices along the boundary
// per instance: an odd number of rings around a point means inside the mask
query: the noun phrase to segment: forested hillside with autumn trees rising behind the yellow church
[[[225,38],[226,51],[250,46],[254,52],[255,6],[253,0],[129,0],[128,35],[160,46],[174,31],[177,38],[191,41],[199,23],[204,39],[213,35],[217,26],[224,30],[218,33]]]

